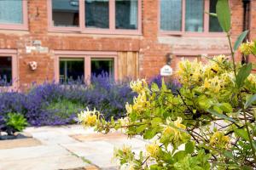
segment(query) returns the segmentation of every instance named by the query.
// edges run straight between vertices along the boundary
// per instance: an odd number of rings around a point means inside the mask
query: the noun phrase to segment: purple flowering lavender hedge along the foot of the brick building
[[[114,119],[124,117],[124,105],[131,103],[137,95],[131,91],[129,82],[128,78],[113,82],[108,75],[102,74],[92,77],[89,85],[81,82],[65,85],[45,82],[34,84],[27,93],[0,93],[0,131],[6,131],[9,113],[20,113],[32,126],[75,123],[77,113],[85,108],[97,108],[106,120],[112,116]]]

